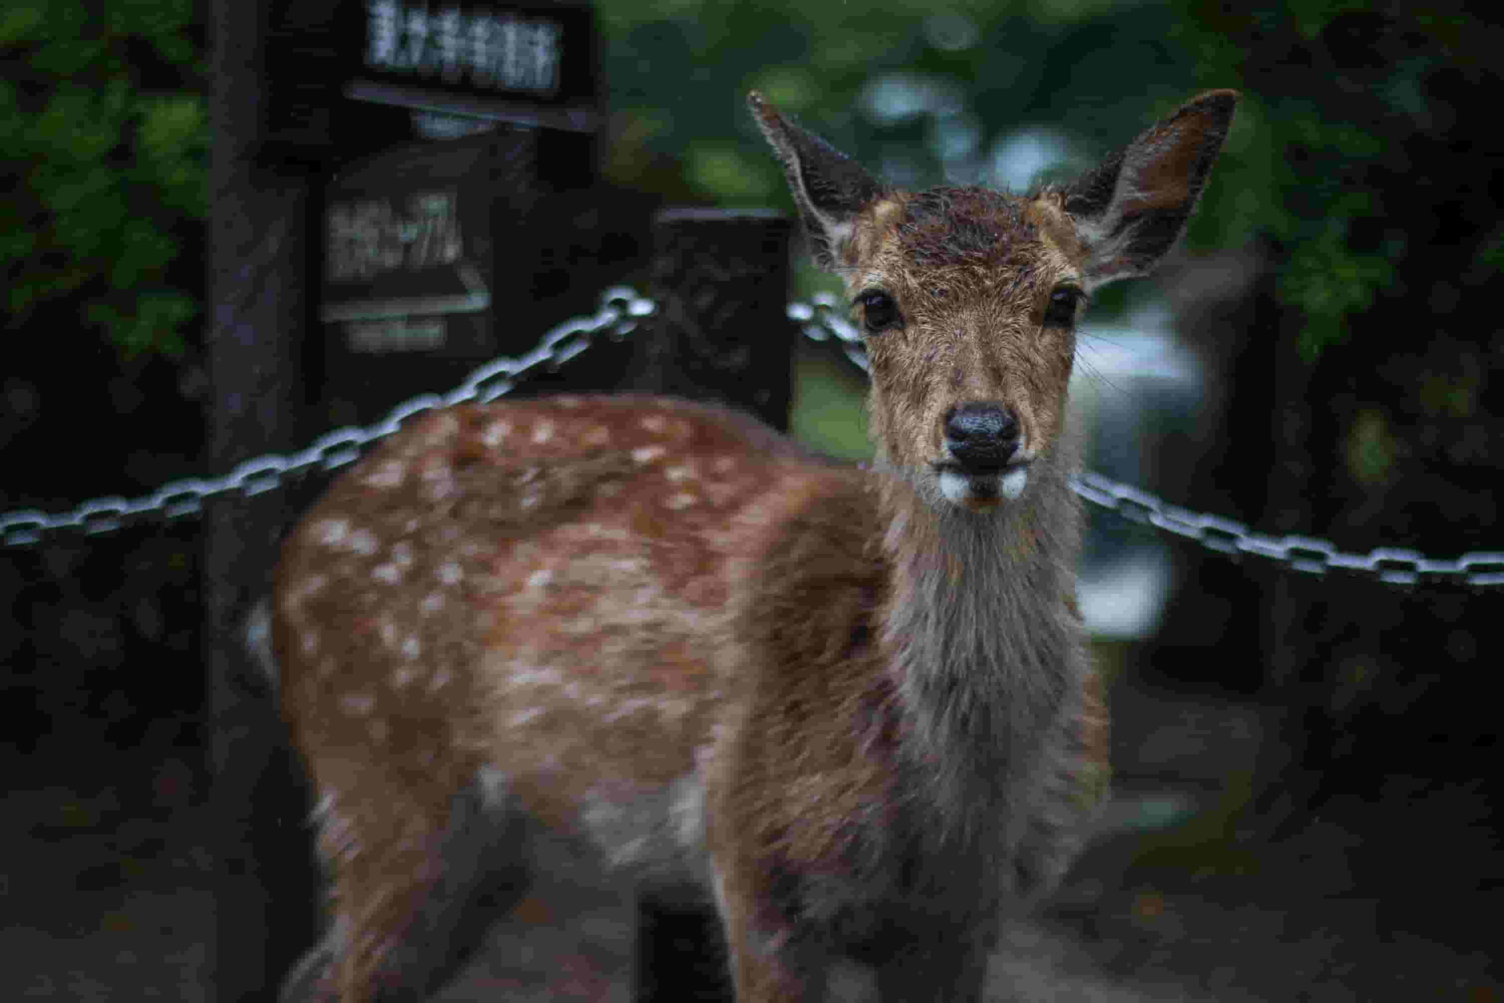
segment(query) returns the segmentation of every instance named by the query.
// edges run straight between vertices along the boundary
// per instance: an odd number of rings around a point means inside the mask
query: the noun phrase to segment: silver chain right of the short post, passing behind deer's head
[[[845,307],[833,296],[815,296],[812,304],[790,304],[788,317],[803,326],[805,337],[826,341],[835,337],[848,359],[868,371],[866,346],[856,326],[845,317]],[[1221,553],[1250,553],[1296,571],[1324,574],[1330,570],[1357,571],[1381,582],[1457,582],[1462,585],[1504,585],[1504,552],[1463,553],[1451,561],[1427,558],[1418,550],[1378,547],[1367,553],[1345,553],[1327,540],[1311,537],[1269,537],[1241,522],[1172,505],[1163,498],[1131,484],[1086,471],[1071,481],[1077,495],[1131,522],[1148,523],[1166,532]]]

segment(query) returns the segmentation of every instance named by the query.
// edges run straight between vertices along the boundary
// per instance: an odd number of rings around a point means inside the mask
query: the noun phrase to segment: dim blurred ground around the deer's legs
[[[1238,829],[1268,710],[1119,687],[1114,714],[1117,795],[1059,895],[1006,929],[996,1001],[1504,1000],[1486,938],[1420,932],[1447,902],[1352,886],[1351,833],[1274,845]],[[12,774],[0,998],[211,998],[202,797],[182,759],[146,774],[144,791]],[[627,1003],[629,929],[618,896],[552,875],[439,998]]]

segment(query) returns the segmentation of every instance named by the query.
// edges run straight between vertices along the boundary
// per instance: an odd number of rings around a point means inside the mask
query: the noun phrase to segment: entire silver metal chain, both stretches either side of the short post
[[[468,400],[486,403],[496,400],[540,368],[556,368],[575,358],[600,334],[626,337],[641,317],[653,314],[656,304],[644,299],[626,286],[614,286],[600,296],[600,308],[585,317],[572,317],[550,329],[526,355],[498,358],[471,373],[463,383],[447,394],[421,394],[396,408],[376,424],[364,429],[335,429],[314,439],[313,445],[292,454],[268,454],[247,460],[230,474],[220,478],[186,478],[164,484],[159,490],[126,501],[125,498],[95,498],[72,511],[48,514],[35,508],[11,511],[0,516],[0,546],[24,546],[38,543],[44,532],[59,529],[81,529],[86,534],[101,534],[119,529],[126,520],[144,516],[182,519],[197,514],[205,498],[241,492],[245,496],[260,495],[281,486],[286,480],[322,468],[332,471],[353,463],[362,447],[393,435],[402,423],[415,414],[435,408],[448,408]],[[811,304],[788,305],[790,320],[800,325],[805,337],[814,341],[841,344],[845,356],[862,371],[869,371],[866,346],[862,335],[845,317],[841,304],[830,295],[817,295]],[[1378,547],[1367,553],[1346,553],[1327,540],[1311,537],[1269,537],[1248,526],[1172,505],[1145,490],[1122,484],[1099,474],[1086,472],[1072,478],[1077,495],[1113,511],[1123,519],[1148,523],[1166,532],[1221,553],[1248,553],[1275,564],[1324,574],[1330,570],[1361,573],[1381,582],[1414,585],[1418,582],[1456,582],[1460,585],[1504,585],[1504,552],[1463,553],[1451,561],[1427,558],[1418,550],[1400,547]]]

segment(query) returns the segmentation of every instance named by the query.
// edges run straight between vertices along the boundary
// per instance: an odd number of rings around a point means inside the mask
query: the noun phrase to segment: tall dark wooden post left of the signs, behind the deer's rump
[[[212,116],[205,466],[221,472],[302,445],[302,341],[308,322],[310,179],[256,162],[265,78],[265,8],[211,8]],[[284,729],[244,644],[268,592],[295,492],[221,496],[203,535],[208,755],[218,857],[209,982],[220,1000],[274,1000],[277,979],[314,940],[305,808]],[[275,896],[275,898],[274,898]]]

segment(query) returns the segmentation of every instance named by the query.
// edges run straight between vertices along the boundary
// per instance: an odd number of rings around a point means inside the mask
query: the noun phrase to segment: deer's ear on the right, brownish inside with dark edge
[[[1065,189],[1089,289],[1145,275],[1175,247],[1236,104],[1235,90],[1199,95]]]

